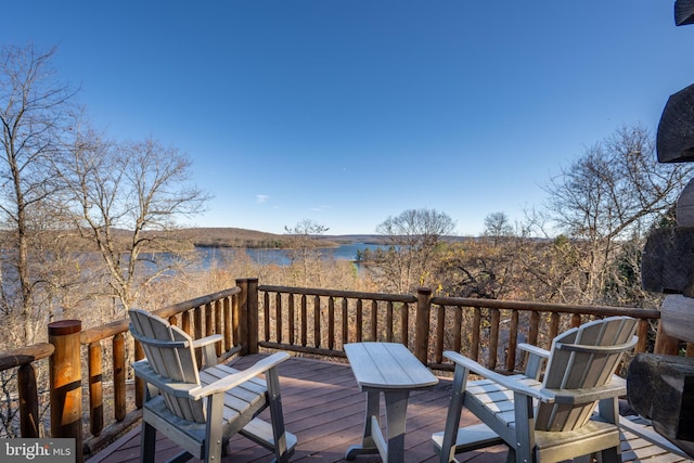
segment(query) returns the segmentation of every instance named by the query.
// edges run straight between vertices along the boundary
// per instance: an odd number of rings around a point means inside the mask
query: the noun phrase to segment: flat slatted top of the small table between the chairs
[[[402,344],[352,343],[345,352],[360,389],[415,389],[438,384],[436,376]]]

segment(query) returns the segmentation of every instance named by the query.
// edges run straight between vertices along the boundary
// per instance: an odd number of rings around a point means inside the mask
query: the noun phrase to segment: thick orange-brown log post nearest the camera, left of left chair
[[[51,437],[74,438],[76,461],[82,455],[82,388],[79,320],[48,325],[48,340],[55,347],[50,358]]]

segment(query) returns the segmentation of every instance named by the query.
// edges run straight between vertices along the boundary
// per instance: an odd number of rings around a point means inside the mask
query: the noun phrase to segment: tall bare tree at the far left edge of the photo
[[[10,249],[2,257],[10,271],[1,275],[0,308],[21,317],[24,343],[33,343],[35,325],[46,322],[35,313],[44,281],[33,272],[33,259],[46,257],[35,241],[39,224],[60,228],[60,218],[47,206],[60,188],[50,159],[61,150],[75,95],[51,67],[54,53],[33,46],[0,50],[0,220],[7,233],[3,247]]]

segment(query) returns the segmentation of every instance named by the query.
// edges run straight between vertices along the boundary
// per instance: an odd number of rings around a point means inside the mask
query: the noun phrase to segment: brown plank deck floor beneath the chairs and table
[[[235,359],[235,368],[244,369],[258,358],[248,356]],[[324,362],[305,358],[292,358],[280,365],[282,403],[287,430],[298,437],[293,462],[344,462],[347,448],[361,441],[363,432],[365,395],[361,394],[346,363]],[[437,386],[414,391],[408,406],[404,462],[435,462],[430,442],[434,432],[444,429],[450,396],[450,380],[441,378]],[[267,411],[265,412],[267,413]],[[382,415],[384,413],[382,412]],[[385,422],[385,419],[383,420]],[[477,420],[463,411],[461,425]],[[130,463],[140,455],[139,427],[88,459],[90,463]],[[156,462],[164,462],[178,453],[176,445],[158,435]],[[230,443],[231,462],[269,462],[269,452],[242,437]],[[639,458],[641,455],[641,458]],[[496,446],[484,451],[462,453],[459,461],[475,463],[505,462],[506,450]],[[625,433],[622,460],[665,463],[686,461],[672,453],[648,446],[630,433]],[[377,455],[357,456],[356,463],[381,461]]]

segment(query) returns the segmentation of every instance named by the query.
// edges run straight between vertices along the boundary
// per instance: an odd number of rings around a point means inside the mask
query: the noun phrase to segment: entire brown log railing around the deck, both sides
[[[644,351],[646,339],[653,337],[650,321],[657,323],[660,316],[658,310],[634,308],[436,297],[426,288],[416,295],[393,295],[267,286],[258,279],[237,280],[235,287],[155,313],[194,338],[222,334],[217,351],[221,359],[260,348],[343,358],[346,343],[383,340],[402,343],[433,369],[450,369],[442,358],[450,349],[479,361],[486,357],[488,366],[506,372],[523,361],[516,358],[519,342],[549,347],[560,331],[613,314],[640,320],[638,350]],[[51,394],[51,410],[61,411],[51,413],[52,421],[81,417],[85,410],[88,426],[82,427],[82,420],[78,425],[51,423],[51,436],[76,438],[81,461],[82,449],[92,452],[139,420],[142,388],[129,380],[129,362],[143,352],[128,335],[125,319],[83,331],[70,321],[59,323],[53,332],[49,325],[49,343],[0,352],[0,371],[17,369],[23,437],[40,434],[35,365],[50,360],[50,387],[57,384],[53,381],[57,376],[65,381],[66,372],[75,375],[68,378],[69,387]],[[70,348],[75,338],[78,347]],[[661,333],[655,344],[661,353],[672,353],[679,346]],[[65,390],[75,391],[78,399],[68,400]]]

